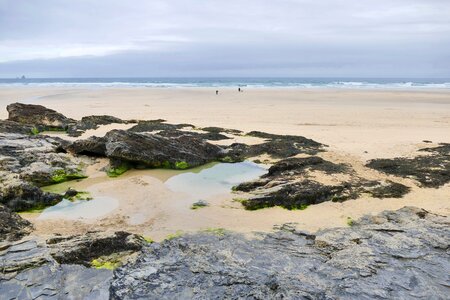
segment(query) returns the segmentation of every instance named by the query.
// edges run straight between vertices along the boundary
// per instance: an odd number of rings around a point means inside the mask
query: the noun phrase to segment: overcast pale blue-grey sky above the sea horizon
[[[450,0],[0,0],[0,78],[450,77]]]

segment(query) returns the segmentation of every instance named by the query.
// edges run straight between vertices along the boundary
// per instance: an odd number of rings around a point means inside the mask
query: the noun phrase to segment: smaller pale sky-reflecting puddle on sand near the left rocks
[[[96,197],[93,200],[62,200],[58,204],[46,208],[38,217],[45,219],[95,219],[104,216],[119,206],[119,201],[110,197]]]

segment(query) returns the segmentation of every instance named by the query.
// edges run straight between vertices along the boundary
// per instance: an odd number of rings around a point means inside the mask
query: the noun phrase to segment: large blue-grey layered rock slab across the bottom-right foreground
[[[449,220],[417,208],[315,236],[199,233],[146,246],[112,299],[446,299]]]

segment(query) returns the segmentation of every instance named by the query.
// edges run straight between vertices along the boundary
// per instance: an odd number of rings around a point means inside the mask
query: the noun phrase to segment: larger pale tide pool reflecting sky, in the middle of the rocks
[[[267,169],[253,162],[216,164],[198,173],[183,173],[169,178],[165,184],[174,192],[188,194],[193,199],[227,193],[242,182],[254,180]]]

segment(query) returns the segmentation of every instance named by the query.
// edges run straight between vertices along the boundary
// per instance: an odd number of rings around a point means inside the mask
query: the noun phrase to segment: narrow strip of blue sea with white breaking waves
[[[0,78],[1,86],[450,89],[450,78]]]

